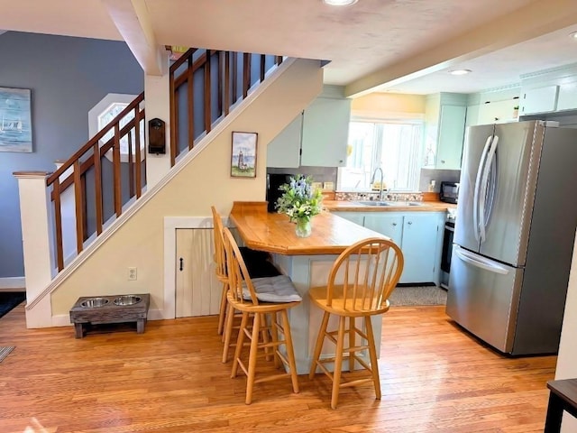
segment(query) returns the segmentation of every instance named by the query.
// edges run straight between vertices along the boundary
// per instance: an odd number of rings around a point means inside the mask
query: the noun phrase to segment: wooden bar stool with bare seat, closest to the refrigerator
[[[377,400],[380,400],[379,364],[371,316],[389,310],[389,295],[397,285],[403,263],[403,253],[397,244],[376,237],[365,239],[351,245],[339,255],[328,275],[326,286],[308,291],[313,304],[325,311],[316,338],[309,378],[315,377],[318,367],[333,381],[333,409],[336,409],[341,388],[362,383],[372,382]],[[338,283],[337,278],[342,278],[343,283]],[[327,331],[331,314],[338,317],[338,328]],[[366,332],[358,327],[359,322],[356,322],[356,319],[361,319]],[[356,336],[360,336],[361,343],[364,340],[366,344],[356,345]],[[325,338],[336,345],[336,350],[334,357],[321,359]],[[359,354],[366,351],[369,352],[370,364]],[[345,354],[349,362],[349,372],[353,372],[355,365],[361,365],[370,376],[345,382],[342,376]],[[334,364],[333,372],[325,366],[327,363]]]

